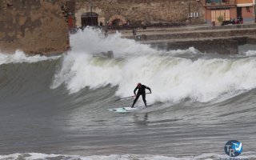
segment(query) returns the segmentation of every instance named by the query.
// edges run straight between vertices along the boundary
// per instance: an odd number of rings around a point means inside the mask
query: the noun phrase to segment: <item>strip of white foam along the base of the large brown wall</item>
[[[22,62],[40,62],[49,59],[56,59],[60,56],[46,57],[41,55],[27,56],[22,50],[16,50],[14,54],[1,54],[0,53],[0,65],[8,63],[22,63]]]

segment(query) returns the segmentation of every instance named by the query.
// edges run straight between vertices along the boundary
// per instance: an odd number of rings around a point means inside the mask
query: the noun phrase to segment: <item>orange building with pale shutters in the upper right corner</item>
[[[219,25],[222,21],[230,21],[230,18],[254,22],[254,6],[254,0],[206,0],[206,22]]]

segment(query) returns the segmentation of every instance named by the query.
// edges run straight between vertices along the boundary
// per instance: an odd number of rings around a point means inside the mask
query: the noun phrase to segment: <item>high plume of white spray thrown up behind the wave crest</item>
[[[149,45],[140,45],[134,40],[122,38],[120,33],[109,34],[105,38],[102,30],[94,30],[90,27],[78,30],[77,34],[71,34],[70,46],[72,52],[76,54],[94,54],[112,50],[115,57],[154,52]]]

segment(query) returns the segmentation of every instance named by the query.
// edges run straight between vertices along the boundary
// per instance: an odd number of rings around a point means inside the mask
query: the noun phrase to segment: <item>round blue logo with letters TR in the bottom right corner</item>
[[[242,153],[242,142],[231,140],[224,146],[225,153],[230,157],[237,157]]]

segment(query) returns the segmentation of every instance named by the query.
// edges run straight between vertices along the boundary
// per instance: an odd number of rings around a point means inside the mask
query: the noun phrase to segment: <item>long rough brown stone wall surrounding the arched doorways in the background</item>
[[[204,22],[203,0],[94,0],[92,12],[98,14],[98,24],[120,19],[130,25],[150,25],[154,23],[189,23],[190,12],[198,13],[191,18],[192,23]],[[90,0],[76,0],[76,26],[81,26],[81,15],[90,12]]]

